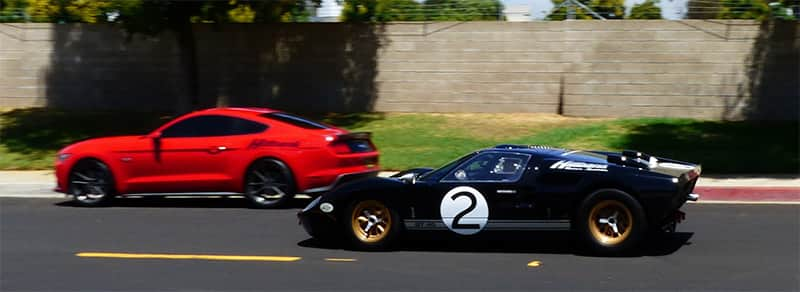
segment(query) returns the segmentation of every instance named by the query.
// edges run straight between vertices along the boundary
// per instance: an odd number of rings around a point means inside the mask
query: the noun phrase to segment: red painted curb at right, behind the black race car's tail
[[[699,201],[800,202],[797,187],[695,187]]]

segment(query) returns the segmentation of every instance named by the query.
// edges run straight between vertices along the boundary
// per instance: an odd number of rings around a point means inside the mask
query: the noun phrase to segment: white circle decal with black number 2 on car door
[[[468,186],[456,187],[447,192],[442,198],[439,212],[447,228],[461,235],[480,232],[489,220],[486,198],[481,192]]]

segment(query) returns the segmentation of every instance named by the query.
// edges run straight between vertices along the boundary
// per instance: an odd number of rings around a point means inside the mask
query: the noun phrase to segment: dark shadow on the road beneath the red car
[[[287,206],[281,209],[302,209],[311,199],[295,198]],[[231,208],[231,209],[253,209],[250,202],[243,197],[132,197],[115,198],[107,204],[98,207],[83,207],[77,205],[72,200],[55,203],[59,207],[73,208]],[[268,209],[265,209],[268,210]]]

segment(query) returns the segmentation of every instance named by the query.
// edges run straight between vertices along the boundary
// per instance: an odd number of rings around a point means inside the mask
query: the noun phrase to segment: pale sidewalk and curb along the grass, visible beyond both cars
[[[395,172],[383,171],[380,176]],[[55,177],[45,171],[0,171],[0,197],[60,198]],[[701,203],[800,204],[800,175],[706,175],[695,187]]]

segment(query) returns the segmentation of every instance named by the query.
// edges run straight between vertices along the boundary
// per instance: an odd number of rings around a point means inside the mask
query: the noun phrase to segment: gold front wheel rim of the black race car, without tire
[[[392,228],[392,215],[383,203],[369,200],[358,203],[351,214],[353,234],[366,243],[379,242]]]

